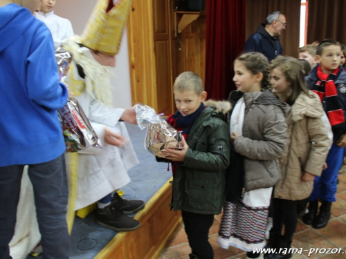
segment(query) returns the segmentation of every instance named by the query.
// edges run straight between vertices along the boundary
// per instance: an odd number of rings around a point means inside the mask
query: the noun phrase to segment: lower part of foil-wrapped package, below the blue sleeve
[[[75,98],[69,98],[58,111],[66,144],[66,152],[78,152],[88,146],[102,148],[89,119]]]

